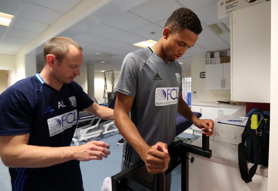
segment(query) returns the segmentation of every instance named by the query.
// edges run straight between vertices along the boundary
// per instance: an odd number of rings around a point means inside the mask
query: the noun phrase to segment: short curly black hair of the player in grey
[[[181,32],[187,28],[195,34],[202,32],[201,22],[198,16],[188,8],[179,8],[175,10],[168,18],[165,28],[168,27],[172,33]]]

